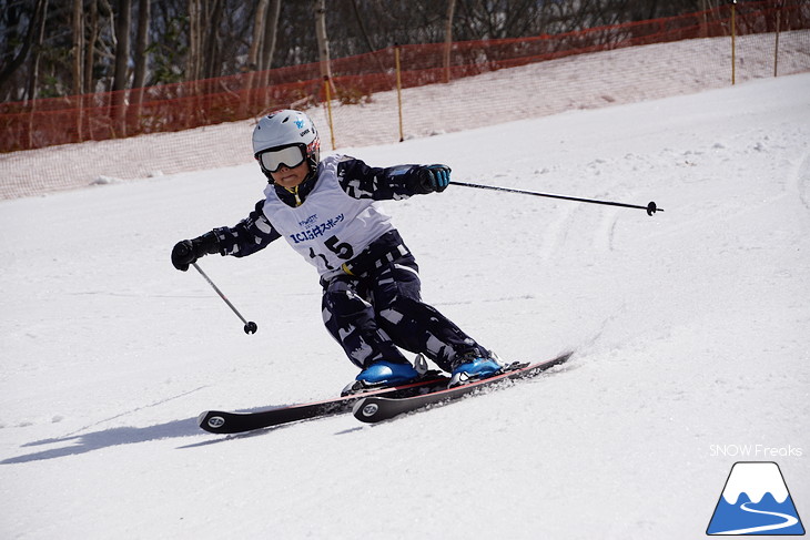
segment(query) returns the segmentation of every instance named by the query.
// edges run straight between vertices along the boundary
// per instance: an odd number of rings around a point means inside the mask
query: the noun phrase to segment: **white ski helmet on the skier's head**
[[[253,129],[253,155],[271,182],[273,179],[261,154],[290,146],[301,149],[301,157],[308,162],[311,172],[317,170],[321,161],[321,139],[310,116],[301,111],[282,109],[271,112]],[[293,163],[285,165],[291,166]]]

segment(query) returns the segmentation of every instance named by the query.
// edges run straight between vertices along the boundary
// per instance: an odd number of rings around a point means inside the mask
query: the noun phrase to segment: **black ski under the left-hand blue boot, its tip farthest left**
[[[322,401],[257,410],[254,412],[206,410],[198,417],[198,424],[205,431],[230,435],[267,428],[271,426],[280,426],[282,424],[290,424],[300,420],[307,420],[311,418],[340,415],[352,410],[352,406],[355,401],[363,397],[386,396],[404,398],[414,396],[419,391],[432,391],[438,388],[446,388],[449,378],[444,375],[435,374],[436,371],[431,371],[429,376],[426,378],[407,385],[382,388],[378,390],[368,390],[360,394],[350,394],[347,396],[324,399]]]

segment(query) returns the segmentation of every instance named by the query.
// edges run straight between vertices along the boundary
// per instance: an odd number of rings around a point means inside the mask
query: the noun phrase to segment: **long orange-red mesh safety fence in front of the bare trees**
[[[402,88],[515,68],[573,54],[731,34],[810,28],[810,2],[746,2],[681,17],[593,28],[536,38],[453,43],[449,69],[444,43],[401,48]],[[364,103],[396,88],[395,49],[333,60],[337,103]],[[730,70],[730,67],[729,67]],[[0,152],[175,132],[255,118],[279,108],[308,109],[325,99],[318,63],[202,81],[0,104]],[[323,132],[323,130],[322,130]]]

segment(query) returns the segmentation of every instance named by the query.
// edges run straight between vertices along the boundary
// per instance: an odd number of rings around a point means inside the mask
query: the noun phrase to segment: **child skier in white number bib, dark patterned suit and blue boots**
[[[315,265],[323,287],[323,320],[361,368],[346,391],[395,386],[418,370],[397,347],[422,353],[452,374],[449,386],[490,376],[502,366],[454,323],[424,304],[418,266],[377,201],[443,192],[446,165],[371,167],[344,155],[320,160],[315,125],[300,111],[262,118],[253,153],[270,185],[233,227],[179,242],[172,264],[188,271],[219,253],[252,255],[282,236]]]

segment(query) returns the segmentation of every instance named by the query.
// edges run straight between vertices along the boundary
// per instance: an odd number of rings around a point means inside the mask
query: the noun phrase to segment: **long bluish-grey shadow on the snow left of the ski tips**
[[[52,439],[42,439],[28,442],[23,447],[40,447],[59,445],[58,448],[27,454],[14,458],[8,458],[0,461],[0,465],[26,463],[29,461],[40,461],[44,459],[63,458],[67,456],[78,456],[94,450],[101,450],[119,445],[132,445],[136,442],[148,442],[158,439],[171,439],[178,437],[191,437],[200,435],[200,426],[196,418],[188,418],[185,420],[174,420],[156,426],[143,428],[121,427],[110,428],[101,431],[91,431],[87,434],[74,432],[64,437],[55,437]]]

